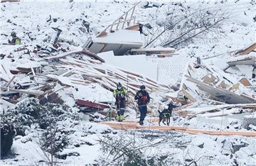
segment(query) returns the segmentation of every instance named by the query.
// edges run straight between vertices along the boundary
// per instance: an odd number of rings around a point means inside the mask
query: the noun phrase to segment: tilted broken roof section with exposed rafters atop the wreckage
[[[139,23],[135,23],[134,16],[137,4],[117,18],[110,26],[107,26],[95,38],[88,38],[83,48],[89,49],[95,54],[113,50],[114,55],[124,55],[132,48],[141,48],[143,43],[139,32]]]

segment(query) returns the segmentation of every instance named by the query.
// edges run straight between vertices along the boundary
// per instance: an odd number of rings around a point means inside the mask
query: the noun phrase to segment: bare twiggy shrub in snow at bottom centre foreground
[[[119,135],[105,135],[98,140],[101,151],[107,154],[102,158],[103,165],[149,165],[144,151],[153,148],[161,143],[166,143],[167,138],[163,138],[154,143],[140,142],[135,133],[122,132]]]

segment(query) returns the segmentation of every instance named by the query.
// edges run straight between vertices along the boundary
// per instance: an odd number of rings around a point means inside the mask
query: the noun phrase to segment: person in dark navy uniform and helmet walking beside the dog
[[[144,85],[140,86],[140,90],[134,96],[134,99],[137,100],[137,104],[139,106],[140,118],[139,124],[143,125],[144,118],[146,117],[146,104],[150,101],[149,93],[146,92],[146,87]]]

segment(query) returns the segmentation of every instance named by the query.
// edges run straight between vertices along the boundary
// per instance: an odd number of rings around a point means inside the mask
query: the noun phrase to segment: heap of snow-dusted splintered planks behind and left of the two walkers
[[[72,96],[74,100],[90,101],[81,95],[85,87],[93,84],[102,86],[103,91],[108,95],[108,99],[102,97],[96,101],[103,101],[103,103],[104,101],[105,103],[111,102],[112,92],[118,82],[127,86],[131,95],[130,99],[139,90],[141,84],[145,84],[151,92],[161,92],[164,97],[168,97],[166,92],[171,91],[169,87],[140,74],[112,67],[102,58],[82,48],[44,56],[36,47],[30,50],[32,46],[17,48],[16,45],[6,45],[6,50],[7,48],[9,52],[3,53],[1,64],[3,109],[28,96],[38,97],[41,104],[47,102],[62,104],[63,100],[66,101],[65,96],[58,94],[65,92],[65,89],[69,91],[65,93]]]

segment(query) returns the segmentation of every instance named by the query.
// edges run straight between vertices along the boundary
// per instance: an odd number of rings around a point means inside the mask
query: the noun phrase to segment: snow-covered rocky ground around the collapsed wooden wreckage
[[[12,31],[16,31],[18,37],[21,38],[22,45],[46,45],[50,41],[50,36],[55,34],[51,27],[60,28],[63,32],[60,34],[59,41],[69,47],[70,50],[78,50],[78,46],[82,46],[90,35],[96,35],[102,29],[117,19],[124,11],[133,6],[135,1],[26,1],[18,3],[1,3],[0,27],[1,37],[0,43],[4,45]],[[179,2],[179,1],[176,1]],[[210,2],[210,3],[206,3]],[[146,3],[143,1],[142,4]],[[156,3],[156,2],[155,2]],[[164,6],[161,8],[142,8],[139,4],[134,11],[138,21],[142,23],[151,23],[156,15],[161,16],[165,9],[172,1],[163,1]],[[183,4],[196,4],[194,1],[182,1]],[[220,8],[220,10],[228,11],[231,14],[230,19],[223,25],[223,34],[218,40],[198,40],[196,43],[178,50],[181,57],[190,58],[189,61],[196,60],[196,57],[218,57],[203,60],[203,65],[214,65],[223,68],[224,62],[230,60],[226,52],[244,48],[255,42],[256,26],[253,18],[255,17],[255,1],[198,1],[198,5],[206,8]],[[16,46],[4,46],[0,48],[0,53],[14,50]],[[16,52],[13,57],[15,64],[28,65],[28,55],[18,58],[19,53]],[[165,74],[157,76],[157,63],[152,59],[142,56],[122,56],[114,57],[104,55],[100,57],[106,60],[107,65],[124,68],[131,72],[138,72],[150,77],[151,79],[159,79],[158,81],[166,85],[172,84],[173,81],[164,79]],[[255,56],[255,52],[252,52]],[[108,57],[105,57],[108,56]],[[185,60],[183,60],[185,61]],[[15,67],[10,60],[1,60],[1,64],[7,67]],[[35,63],[33,63],[35,65]],[[182,65],[185,65],[183,63]],[[225,65],[225,64],[224,64]],[[181,67],[182,68],[182,67]],[[181,71],[182,69],[177,69]],[[161,71],[161,70],[160,70]],[[198,70],[199,71],[199,70]],[[170,74],[171,75],[171,74]],[[198,75],[200,75],[198,73]],[[174,77],[177,80],[176,75]],[[60,85],[55,86],[60,89]],[[74,106],[74,99],[90,99],[91,101],[112,101],[112,94],[100,87],[99,84],[89,84],[88,86],[80,86],[80,91],[75,92],[73,88],[65,89],[58,92],[63,96],[64,101],[69,106]],[[74,97],[70,97],[70,93],[75,93]],[[151,94],[152,98],[159,99],[156,94]],[[153,105],[153,104],[152,104]],[[194,104],[196,105],[196,104]],[[147,160],[160,158],[165,156],[164,162],[159,165],[189,165],[193,161],[197,165],[256,165],[256,140],[255,138],[243,137],[239,135],[230,136],[213,136],[213,135],[190,135],[181,132],[161,132],[161,131],[116,131],[108,126],[99,123],[89,122],[88,116],[82,113],[76,113],[78,110],[73,108],[73,113],[80,116],[78,121],[63,121],[63,126],[72,131],[69,135],[69,144],[60,152],[59,155],[67,155],[65,160],[58,159],[57,165],[103,165],[102,161],[106,160],[107,155],[102,152],[99,139],[105,135],[113,138],[119,138],[120,135],[135,135],[139,143],[154,143],[159,139],[167,138],[165,143],[156,145],[154,148],[143,150],[144,157]],[[155,110],[156,112],[157,110]],[[239,111],[232,109],[232,111]],[[224,114],[230,112],[223,109],[222,112],[214,114]],[[250,114],[250,113],[248,113]],[[148,115],[149,116],[152,116]],[[213,114],[211,114],[213,115]],[[100,115],[99,115],[100,116]],[[221,122],[221,125],[220,125]],[[198,116],[188,120],[180,116],[174,116],[171,119],[171,126],[191,126],[196,128],[205,128],[213,130],[226,129],[237,131],[237,127],[242,121],[235,118],[214,118],[209,120],[207,116]],[[157,126],[158,123],[146,124]],[[228,128],[227,128],[228,126]],[[18,135],[14,138],[12,153],[14,157],[0,161],[0,165],[44,165],[47,161],[46,155],[41,148],[38,147],[37,126],[31,126],[26,131],[25,136]],[[242,145],[242,148],[238,148]],[[110,165],[117,165],[113,162]],[[192,163],[191,165],[194,165]]]

